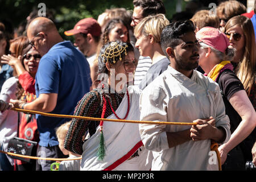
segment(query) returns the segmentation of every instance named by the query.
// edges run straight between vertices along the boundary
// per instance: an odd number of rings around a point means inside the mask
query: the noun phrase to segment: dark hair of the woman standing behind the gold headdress
[[[119,19],[119,18],[114,18],[112,20],[110,20],[108,22],[108,24],[106,25],[105,29],[104,29],[104,32],[102,34],[102,45],[106,44],[107,42],[109,42],[109,32],[115,27],[115,24],[117,23],[122,23],[126,28],[127,28],[127,31],[128,31],[128,35],[127,35],[127,42],[130,42],[130,39],[129,39],[129,28],[127,26],[127,24],[125,24],[125,22],[123,22],[122,19]]]

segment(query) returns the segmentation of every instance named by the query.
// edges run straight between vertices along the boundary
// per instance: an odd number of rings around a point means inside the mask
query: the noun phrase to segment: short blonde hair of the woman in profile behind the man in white
[[[134,35],[136,37],[140,35],[152,34],[156,43],[160,43],[161,33],[168,24],[169,20],[164,14],[150,15],[143,18],[141,22],[135,26]]]

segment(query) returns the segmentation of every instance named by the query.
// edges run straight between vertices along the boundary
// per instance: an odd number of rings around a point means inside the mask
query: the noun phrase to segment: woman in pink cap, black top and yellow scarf
[[[233,59],[236,49],[229,47],[229,39],[216,28],[204,27],[196,33],[196,37],[201,45],[199,65],[220,86],[226,115],[230,119],[232,135],[227,143],[218,148],[222,169],[245,170],[246,161],[252,160],[256,113],[229,61]]]

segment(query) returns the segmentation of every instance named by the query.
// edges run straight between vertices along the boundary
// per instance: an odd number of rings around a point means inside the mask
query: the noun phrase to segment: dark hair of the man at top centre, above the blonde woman
[[[162,0],[134,0],[133,6],[141,6],[143,9],[142,16],[145,18],[148,15],[166,14]]]

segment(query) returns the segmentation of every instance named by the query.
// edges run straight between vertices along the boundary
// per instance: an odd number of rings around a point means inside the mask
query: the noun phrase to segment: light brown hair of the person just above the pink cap
[[[198,27],[199,30],[203,27],[220,27],[218,16],[209,15],[209,13],[209,10],[200,10],[191,18],[192,22],[195,23],[195,26]]]

